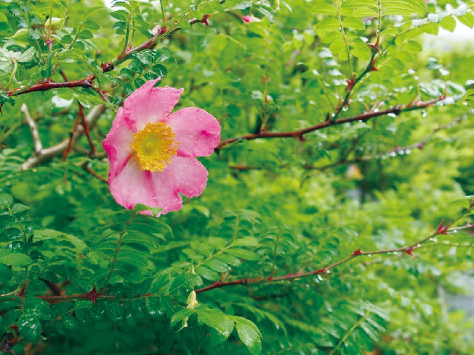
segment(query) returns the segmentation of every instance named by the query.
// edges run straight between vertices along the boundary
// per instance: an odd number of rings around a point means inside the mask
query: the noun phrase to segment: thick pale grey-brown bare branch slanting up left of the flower
[[[93,127],[97,119],[102,115],[105,111],[105,105],[97,105],[91,109],[89,114],[86,116],[86,122],[89,124],[89,127]],[[82,136],[84,133],[84,128],[82,125],[77,127],[77,130],[73,134],[72,145]],[[63,142],[58,143],[52,147],[45,148],[41,151],[40,155],[33,155],[28,160],[26,160],[23,164],[21,164],[21,169],[26,170],[35,167],[38,164],[41,164],[45,160],[49,160],[54,158],[58,155],[61,155],[64,150],[67,148],[69,144],[69,138],[65,139]]]

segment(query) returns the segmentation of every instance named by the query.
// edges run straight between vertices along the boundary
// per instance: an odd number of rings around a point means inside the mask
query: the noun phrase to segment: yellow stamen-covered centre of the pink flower
[[[171,163],[171,157],[177,154],[173,143],[171,127],[160,122],[146,124],[143,130],[135,133],[135,141],[130,146],[143,170],[163,171],[166,163]]]

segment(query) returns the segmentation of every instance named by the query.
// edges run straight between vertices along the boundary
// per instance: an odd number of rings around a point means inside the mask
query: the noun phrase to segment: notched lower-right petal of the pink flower
[[[151,175],[157,207],[162,208],[161,213],[165,214],[181,209],[182,199],[178,193],[188,197],[201,195],[206,187],[208,171],[192,157],[174,156],[163,171],[156,171]]]

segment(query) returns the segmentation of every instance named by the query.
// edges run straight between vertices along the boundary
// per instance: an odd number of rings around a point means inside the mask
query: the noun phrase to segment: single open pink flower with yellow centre
[[[183,89],[147,81],[119,108],[102,145],[109,156],[109,188],[118,204],[182,207],[179,195],[197,197],[208,172],[195,157],[209,156],[220,140],[219,122],[196,107],[171,113]]]

